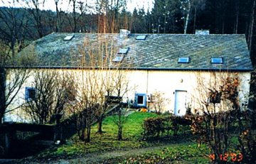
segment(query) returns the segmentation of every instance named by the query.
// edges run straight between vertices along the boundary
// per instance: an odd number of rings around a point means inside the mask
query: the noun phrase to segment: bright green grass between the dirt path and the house
[[[117,126],[113,122],[113,117],[107,117],[102,123],[102,130],[105,133],[97,133],[97,124],[92,126],[91,141],[85,143],[79,141],[74,136],[65,145],[54,150],[48,150],[41,154],[45,156],[63,156],[71,157],[73,155],[84,155],[87,153],[99,153],[103,151],[127,150],[132,148],[142,148],[150,146],[146,141],[140,141],[142,133],[142,122],[149,117],[157,116],[153,113],[134,112],[129,115],[126,124],[124,124],[124,141],[117,141]]]

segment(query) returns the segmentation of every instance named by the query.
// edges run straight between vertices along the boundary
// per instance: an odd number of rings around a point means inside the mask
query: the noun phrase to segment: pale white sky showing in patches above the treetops
[[[0,6],[13,6],[12,3],[9,3],[9,1],[13,1],[13,0],[0,0]],[[19,0],[19,4],[14,4],[15,7],[21,7],[21,6],[26,6],[24,5],[25,3],[23,1],[26,0]],[[65,0],[67,1],[67,0]],[[78,1],[85,1],[85,0],[78,0]],[[142,7],[144,7],[144,9],[151,9],[153,6],[153,1],[154,0],[127,0],[127,10],[128,11],[133,11],[134,8],[137,9],[142,9]],[[88,4],[93,5],[94,2],[93,0],[87,0]],[[63,4],[60,4],[60,9],[62,11],[68,11],[68,2],[63,2]],[[44,6],[41,6],[41,9],[45,9],[45,10],[53,10],[55,11],[55,4],[54,4],[54,0],[46,0],[46,3],[44,4]]]

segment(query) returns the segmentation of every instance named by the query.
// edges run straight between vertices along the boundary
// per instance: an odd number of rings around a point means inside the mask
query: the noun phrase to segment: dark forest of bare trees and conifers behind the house
[[[52,0],[55,11],[41,10],[44,0],[27,0],[23,8],[0,8],[1,47],[7,56],[49,33],[195,33],[246,35],[252,63],[256,63],[256,0],[155,0],[153,9],[127,10],[127,0]],[[60,4],[69,2],[69,11]],[[5,55],[6,56],[6,55]]]

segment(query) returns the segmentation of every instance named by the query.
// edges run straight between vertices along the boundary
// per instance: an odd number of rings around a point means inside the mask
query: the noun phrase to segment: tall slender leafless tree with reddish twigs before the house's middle
[[[117,52],[116,41],[113,35],[99,34],[97,43],[87,37],[85,48],[80,50],[82,68],[77,75],[80,81],[77,84],[80,94],[78,94],[76,111],[77,116],[80,116],[78,124],[85,126],[87,142],[90,141],[93,122],[97,121],[98,133],[102,133],[102,121],[110,109],[111,97],[116,97],[120,102],[124,93],[127,93],[125,86],[128,87],[128,80],[125,79],[125,69],[129,68],[129,65],[125,65],[124,69],[123,62],[112,62],[116,55],[114,52]],[[85,136],[83,131],[80,136],[81,138]]]

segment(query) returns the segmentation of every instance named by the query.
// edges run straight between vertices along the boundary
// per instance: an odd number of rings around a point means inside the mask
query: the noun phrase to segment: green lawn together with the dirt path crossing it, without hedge
[[[158,118],[150,112],[134,111],[127,116],[123,140],[117,140],[117,126],[114,116],[108,116],[102,123],[103,133],[97,133],[92,126],[90,143],[80,141],[77,135],[62,146],[53,146],[36,155],[38,163],[64,159],[73,163],[209,163],[210,150],[206,145],[198,146],[189,129],[161,133],[144,138],[144,120]],[[161,118],[166,116],[160,116]],[[166,136],[165,136],[166,135]],[[19,162],[35,162],[35,157]]]

